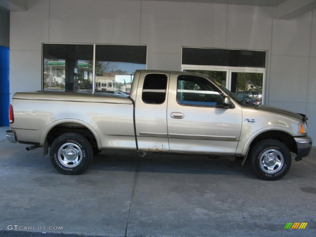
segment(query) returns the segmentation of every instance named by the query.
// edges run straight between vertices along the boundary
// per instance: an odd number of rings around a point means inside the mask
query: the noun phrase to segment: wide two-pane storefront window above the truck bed
[[[43,45],[45,91],[129,94],[134,72],[146,69],[147,46]],[[95,76],[93,75],[95,69]]]

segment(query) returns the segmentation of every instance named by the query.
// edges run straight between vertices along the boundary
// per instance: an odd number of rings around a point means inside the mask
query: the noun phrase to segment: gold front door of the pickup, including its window
[[[207,78],[172,73],[167,123],[170,151],[235,154],[242,112],[224,108],[222,92]]]

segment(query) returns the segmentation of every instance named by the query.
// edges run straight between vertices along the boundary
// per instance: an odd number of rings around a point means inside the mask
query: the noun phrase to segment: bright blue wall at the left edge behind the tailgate
[[[9,125],[9,48],[0,46],[0,126]]]

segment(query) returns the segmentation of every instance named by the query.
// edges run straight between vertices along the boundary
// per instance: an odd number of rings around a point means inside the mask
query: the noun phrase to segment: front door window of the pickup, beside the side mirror
[[[204,78],[179,76],[177,100],[183,105],[221,106],[223,96]]]

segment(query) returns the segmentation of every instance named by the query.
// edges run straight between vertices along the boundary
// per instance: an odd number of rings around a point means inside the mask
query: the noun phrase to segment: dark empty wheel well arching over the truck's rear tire
[[[78,133],[87,138],[92,147],[98,147],[98,143],[93,133],[84,125],[77,123],[62,123],[53,127],[46,137],[48,146],[50,147],[57,137],[67,132]]]

